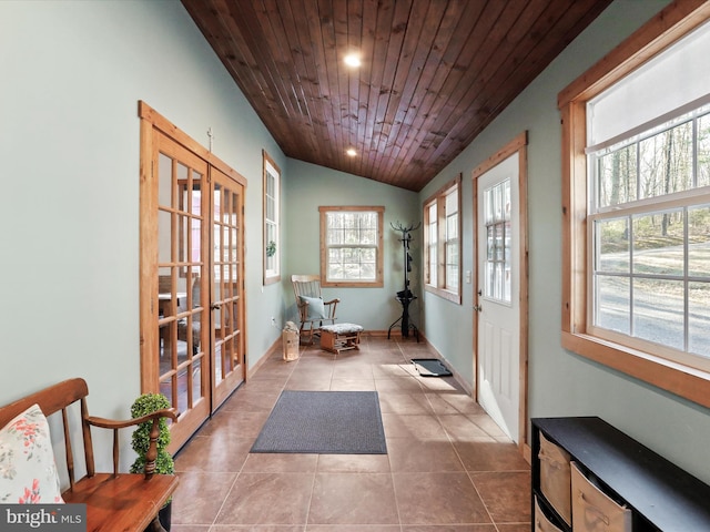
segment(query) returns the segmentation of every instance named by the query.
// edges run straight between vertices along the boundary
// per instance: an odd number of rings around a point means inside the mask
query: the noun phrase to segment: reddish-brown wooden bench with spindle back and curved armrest
[[[39,405],[45,417],[61,411],[63,440],[67,450],[67,472],[69,488],[62,492],[68,503],[87,504],[87,530],[90,531],[162,531],[158,512],[172,497],[178,487],[174,474],[154,474],[158,456],[159,420],[176,420],[172,410],[159,410],[141,418],[118,421],[89,416],[87,396],[89,388],[83,379],[69,379],[27,396],[4,407],[0,407],[0,427],[4,427],[14,417],[32,405]],[[69,423],[69,407],[79,402],[81,412],[81,434],[87,463],[85,477],[74,478],[72,453],[73,433]],[[119,429],[152,421],[151,443],[146,456],[144,474],[119,473]],[[94,469],[94,452],[91,441],[91,427],[113,430],[113,472],[98,473]],[[75,431],[78,432],[78,431]],[[78,439],[79,436],[75,436]],[[59,463],[58,463],[59,466]]]

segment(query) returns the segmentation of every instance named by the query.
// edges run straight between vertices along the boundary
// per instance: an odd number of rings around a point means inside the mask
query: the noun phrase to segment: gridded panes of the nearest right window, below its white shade
[[[710,106],[588,161],[589,330],[710,369]]]

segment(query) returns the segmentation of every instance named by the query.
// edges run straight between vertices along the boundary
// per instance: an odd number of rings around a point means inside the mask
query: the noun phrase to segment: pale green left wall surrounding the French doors
[[[140,392],[139,100],[204,146],[212,129],[214,153],[247,181],[258,360],[282,301],[262,288],[262,150],[287,161],[182,4],[2,1],[0,72],[0,403],[81,376],[90,411],[123,418]]]

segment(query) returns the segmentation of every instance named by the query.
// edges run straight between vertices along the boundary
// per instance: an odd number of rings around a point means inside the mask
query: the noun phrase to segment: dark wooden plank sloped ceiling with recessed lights
[[[610,2],[182,0],[287,156],[417,192]]]

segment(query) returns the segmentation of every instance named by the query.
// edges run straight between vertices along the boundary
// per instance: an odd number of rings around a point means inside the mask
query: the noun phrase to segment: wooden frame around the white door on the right
[[[518,154],[518,253],[520,257],[519,266],[519,280],[520,280],[520,356],[519,356],[519,403],[518,403],[518,449],[524,454],[526,460],[530,461],[530,446],[527,442],[528,436],[528,132],[524,131],[518,136],[513,139],[508,144],[498,150],[494,155],[488,157],[481,164],[476,166],[471,172],[473,183],[473,200],[474,200],[474,265],[476,268],[475,275],[473,275],[473,300],[474,305],[478,305],[478,270],[479,256],[478,256],[478,177],[484,175],[494,166],[510,157],[514,154]],[[474,310],[473,317],[473,330],[476,334],[476,338],[473,342],[474,348],[474,393],[478,396],[478,311]]]

